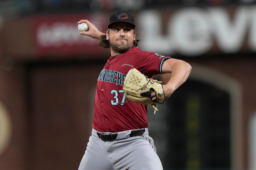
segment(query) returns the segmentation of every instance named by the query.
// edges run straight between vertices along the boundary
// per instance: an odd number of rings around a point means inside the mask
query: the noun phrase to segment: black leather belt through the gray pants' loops
[[[130,134],[130,137],[141,136],[141,135],[143,135],[144,132],[145,132],[145,129],[132,130],[131,134]],[[100,132],[97,132],[97,135],[103,141],[113,141],[113,140],[116,140],[117,134],[118,133],[100,133]]]

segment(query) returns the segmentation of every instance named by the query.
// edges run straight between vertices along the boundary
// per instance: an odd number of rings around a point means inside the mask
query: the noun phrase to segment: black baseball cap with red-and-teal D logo
[[[133,16],[127,12],[117,12],[111,15],[109,18],[108,28],[110,28],[113,24],[116,24],[118,22],[125,22],[127,24],[130,24],[133,29],[135,28]]]

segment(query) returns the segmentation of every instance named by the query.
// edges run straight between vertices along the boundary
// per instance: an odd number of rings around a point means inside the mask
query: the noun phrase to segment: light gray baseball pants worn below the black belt
[[[102,141],[92,129],[78,170],[163,170],[148,129],[142,136],[129,137],[130,133],[118,132],[116,140]]]

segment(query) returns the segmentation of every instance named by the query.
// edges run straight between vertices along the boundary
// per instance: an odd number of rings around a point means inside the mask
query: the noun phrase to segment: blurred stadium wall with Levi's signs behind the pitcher
[[[193,68],[148,107],[164,170],[255,170],[255,0],[0,0],[0,169],[78,168],[109,49],[77,22],[105,32],[118,11],[134,15],[142,50]]]

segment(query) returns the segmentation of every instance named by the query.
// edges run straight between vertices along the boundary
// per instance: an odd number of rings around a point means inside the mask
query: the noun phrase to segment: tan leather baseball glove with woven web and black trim
[[[152,78],[147,78],[139,70],[132,68],[128,71],[124,79],[123,90],[125,92],[125,97],[133,100],[140,104],[151,104],[155,109],[156,104],[164,104],[164,90],[161,81],[154,80]],[[151,100],[150,93],[155,92],[156,100]]]

